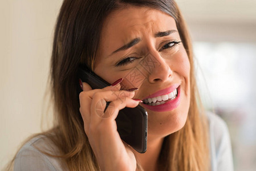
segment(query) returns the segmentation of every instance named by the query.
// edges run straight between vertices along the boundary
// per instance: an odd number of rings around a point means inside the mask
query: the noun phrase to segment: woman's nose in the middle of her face
[[[147,60],[146,63],[148,64],[148,81],[150,83],[165,82],[173,75],[169,64],[165,62],[165,59],[162,58],[158,51],[150,52],[145,60]]]

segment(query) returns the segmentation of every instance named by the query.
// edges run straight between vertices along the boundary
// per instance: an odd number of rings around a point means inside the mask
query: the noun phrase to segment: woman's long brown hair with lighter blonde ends
[[[190,61],[190,108],[184,127],[165,137],[159,156],[160,170],[209,170],[208,125],[194,77],[192,44],[176,2],[172,0],[64,0],[56,22],[51,58],[51,91],[55,126],[41,133],[49,137],[70,170],[99,170],[94,152],[84,133],[79,112],[79,64],[94,70],[101,28],[114,10],[133,5],[157,9],[176,21]],[[54,136],[52,136],[54,135]],[[139,168],[139,167],[138,167]]]

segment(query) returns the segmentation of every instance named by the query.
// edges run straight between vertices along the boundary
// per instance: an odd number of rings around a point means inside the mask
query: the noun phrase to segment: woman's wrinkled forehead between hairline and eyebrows
[[[177,30],[170,15],[147,7],[129,6],[109,14],[103,23],[100,44],[109,50],[122,46],[132,39],[154,36],[156,32]],[[111,47],[108,46],[111,42]],[[103,50],[104,51],[104,50]]]

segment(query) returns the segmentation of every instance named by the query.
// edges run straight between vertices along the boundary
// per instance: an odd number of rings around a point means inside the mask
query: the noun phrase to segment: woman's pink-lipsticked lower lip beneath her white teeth
[[[178,95],[175,99],[167,101],[165,104],[159,104],[159,105],[147,105],[144,103],[141,103],[145,108],[156,111],[156,112],[166,112],[166,111],[172,111],[173,109],[177,108],[180,104],[180,87],[177,88]]]

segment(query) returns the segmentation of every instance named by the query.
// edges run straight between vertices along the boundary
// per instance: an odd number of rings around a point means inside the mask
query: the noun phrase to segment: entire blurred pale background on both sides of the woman
[[[229,127],[235,170],[256,170],[256,1],[177,0],[205,107]],[[62,0],[0,0],[0,169],[51,126],[47,80]]]

